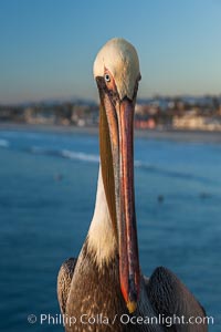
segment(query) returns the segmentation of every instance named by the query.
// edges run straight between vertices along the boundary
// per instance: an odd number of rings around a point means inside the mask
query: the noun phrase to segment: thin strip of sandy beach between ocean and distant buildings
[[[34,125],[19,123],[0,123],[0,133],[1,131],[98,135],[98,127]],[[167,139],[173,142],[221,143],[221,132],[207,131],[135,129],[135,137],[146,139]]]

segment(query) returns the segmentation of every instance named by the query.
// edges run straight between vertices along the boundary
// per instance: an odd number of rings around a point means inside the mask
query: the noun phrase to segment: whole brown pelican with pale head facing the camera
[[[124,39],[108,41],[94,62],[94,77],[101,98],[101,166],[87,237],[78,258],[66,260],[59,272],[65,331],[207,331],[206,323],[199,324],[203,308],[172,272],[160,267],[149,279],[140,272],[133,156],[140,72],[135,48]],[[192,318],[192,323],[175,317]]]

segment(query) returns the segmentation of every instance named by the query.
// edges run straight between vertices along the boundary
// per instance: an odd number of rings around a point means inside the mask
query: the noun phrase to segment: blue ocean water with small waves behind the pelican
[[[221,145],[137,138],[140,264],[171,269],[221,331]],[[63,331],[56,276],[76,256],[95,203],[95,135],[0,131],[0,330]],[[28,315],[36,315],[33,324]]]

